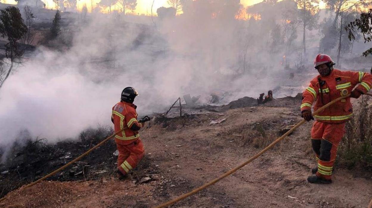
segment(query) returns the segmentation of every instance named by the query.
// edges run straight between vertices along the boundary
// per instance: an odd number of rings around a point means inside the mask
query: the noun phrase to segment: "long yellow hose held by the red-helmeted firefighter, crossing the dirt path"
[[[328,108],[330,105],[332,105],[333,103],[336,103],[337,101],[341,100],[341,99],[345,99],[346,97],[349,97],[350,94],[347,94],[345,96],[342,96],[342,97],[339,97],[335,100],[332,100],[331,102],[327,103],[326,105],[324,105],[323,107],[319,108],[317,111],[315,111],[314,113],[312,113],[312,115],[316,115],[318,114],[319,112],[322,112],[325,108]],[[155,208],[162,208],[162,207],[168,207],[178,201],[181,201],[182,199],[185,199],[191,195],[194,195],[195,193],[198,193],[199,191],[202,191],[203,189],[207,188],[208,186],[211,186],[215,183],[217,183],[219,180],[223,179],[224,177],[227,177],[229,175],[231,175],[232,173],[234,173],[235,171],[241,169],[243,166],[245,166],[246,164],[250,163],[251,161],[253,161],[254,159],[256,159],[257,157],[261,156],[263,153],[265,153],[267,150],[269,150],[270,148],[272,148],[276,143],[278,143],[279,141],[283,140],[286,136],[288,136],[289,134],[291,134],[296,128],[298,128],[299,126],[301,126],[302,124],[305,123],[305,119],[302,120],[301,122],[299,122],[298,124],[296,124],[294,127],[292,127],[291,129],[289,129],[289,131],[287,131],[285,134],[283,134],[281,137],[279,137],[278,139],[276,139],[275,141],[273,141],[273,143],[271,143],[269,146],[267,146],[266,148],[264,148],[262,151],[260,151],[259,153],[257,153],[255,156],[251,157],[249,160],[245,161],[244,163],[241,163],[239,166],[229,170],[228,172],[224,173],[223,175],[219,176],[218,178],[215,178],[213,180],[211,180],[210,182],[208,183],[205,183],[204,185],[200,186],[199,188],[196,188],[188,193],[184,193],[183,195],[175,198],[175,199],[172,199],[170,201],[167,201],[163,204],[160,204],[158,205],[157,207]]]

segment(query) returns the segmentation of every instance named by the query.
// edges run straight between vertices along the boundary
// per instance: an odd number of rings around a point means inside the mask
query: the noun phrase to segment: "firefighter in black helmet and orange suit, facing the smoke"
[[[146,119],[137,120],[137,106],[133,104],[137,95],[137,90],[133,87],[126,87],[121,93],[121,101],[112,107],[111,121],[115,126],[115,132],[125,128],[115,136],[119,151],[117,172],[119,179],[125,179],[145,153],[138,131],[142,128],[142,123],[149,119],[146,116]]]

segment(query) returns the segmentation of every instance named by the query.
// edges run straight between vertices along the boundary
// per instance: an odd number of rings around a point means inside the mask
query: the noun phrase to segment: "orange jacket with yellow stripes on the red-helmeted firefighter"
[[[331,74],[322,77],[318,75],[310,81],[310,85],[302,93],[302,111],[311,111],[311,106],[314,101],[314,111],[331,102],[338,97],[351,93],[353,88],[366,93],[372,87],[372,75],[365,72],[340,71],[334,69]],[[339,124],[348,121],[353,116],[353,106],[350,102],[350,97],[342,99],[323,112],[315,115],[317,121]]]

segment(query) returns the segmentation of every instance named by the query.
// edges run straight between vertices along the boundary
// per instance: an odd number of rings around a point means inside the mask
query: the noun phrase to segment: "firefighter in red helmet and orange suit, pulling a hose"
[[[311,113],[338,97],[351,93],[350,97],[358,98],[372,87],[372,75],[365,72],[340,71],[333,69],[331,57],[318,54],[314,66],[318,70],[317,77],[302,93],[301,114],[306,121],[314,120]],[[359,84],[355,89],[354,87]],[[354,90],[353,90],[354,89]],[[309,176],[310,183],[332,183],[331,176],[337,146],[344,135],[345,122],[353,116],[353,106],[350,97],[342,99],[323,112],[315,115],[311,129],[311,144],[315,152],[318,166],[312,169],[315,176]]]

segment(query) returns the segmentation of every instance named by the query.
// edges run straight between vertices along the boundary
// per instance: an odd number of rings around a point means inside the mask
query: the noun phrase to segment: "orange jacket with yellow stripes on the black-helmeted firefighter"
[[[142,124],[137,121],[136,108],[137,106],[127,102],[118,102],[112,107],[111,119],[115,126],[115,132],[126,127],[124,131],[115,136],[116,143],[128,145],[140,138],[138,130],[142,128]],[[137,131],[131,129],[133,125],[138,127]]]

